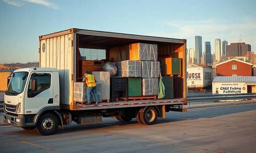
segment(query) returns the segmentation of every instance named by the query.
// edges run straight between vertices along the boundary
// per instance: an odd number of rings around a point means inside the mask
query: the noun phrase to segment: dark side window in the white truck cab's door
[[[36,91],[32,91],[32,79],[36,79]],[[45,91],[51,87],[51,74],[49,73],[33,73],[29,80],[28,85],[28,98],[35,97],[42,91]]]

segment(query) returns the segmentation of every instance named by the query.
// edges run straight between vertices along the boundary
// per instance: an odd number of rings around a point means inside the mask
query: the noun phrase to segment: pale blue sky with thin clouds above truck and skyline
[[[187,39],[242,41],[256,48],[256,1],[0,0],[0,63],[38,61],[38,36],[69,28]]]

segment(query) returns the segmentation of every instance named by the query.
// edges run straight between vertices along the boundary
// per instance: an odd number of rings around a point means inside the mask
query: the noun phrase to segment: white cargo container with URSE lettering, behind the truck
[[[187,87],[196,90],[211,89],[212,68],[198,66],[196,64],[187,65]]]

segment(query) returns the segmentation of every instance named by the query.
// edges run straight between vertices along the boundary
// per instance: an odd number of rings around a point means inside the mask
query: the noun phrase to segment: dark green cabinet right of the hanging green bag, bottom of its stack
[[[163,77],[164,99],[173,98],[173,77]]]

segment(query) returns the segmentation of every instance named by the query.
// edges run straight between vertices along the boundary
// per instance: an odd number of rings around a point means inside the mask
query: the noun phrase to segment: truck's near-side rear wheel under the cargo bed
[[[143,113],[140,113],[140,121],[143,124],[152,125],[156,122],[157,111],[155,107],[148,107]]]

